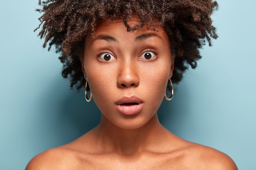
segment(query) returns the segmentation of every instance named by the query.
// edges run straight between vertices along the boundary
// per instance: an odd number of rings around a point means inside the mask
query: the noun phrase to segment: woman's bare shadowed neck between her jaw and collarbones
[[[144,126],[137,129],[123,129],[109,122],[102,115],[96,130],[100,148],[104,152],[117,152],[121,155],[134,155],[141,151],[157,148],[167,130],[159,123],[157,114]]]

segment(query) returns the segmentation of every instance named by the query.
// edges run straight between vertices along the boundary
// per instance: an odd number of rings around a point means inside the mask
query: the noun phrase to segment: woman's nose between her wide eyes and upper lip
[[[135,62],[123,61],[119,64],[117,86],[120,88],[136,87],[139,85],[139,77]]]

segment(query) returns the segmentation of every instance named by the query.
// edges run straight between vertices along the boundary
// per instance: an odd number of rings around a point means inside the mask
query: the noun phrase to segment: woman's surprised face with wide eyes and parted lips
[[[102,121],[136,129],[156,114],[174,64],[166,31],[155,28],[128,32],[121,19],[103,20],[86,36],[82,69]]]

